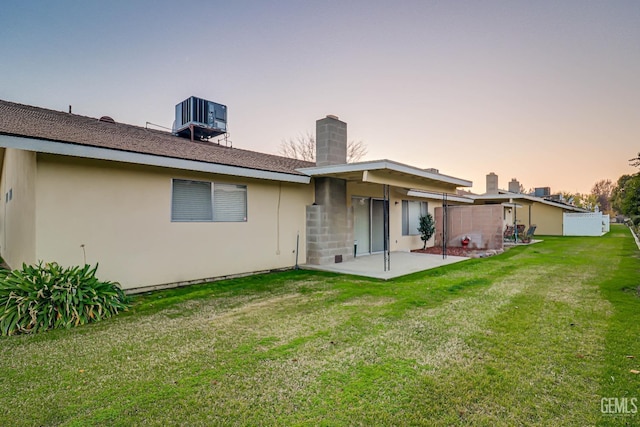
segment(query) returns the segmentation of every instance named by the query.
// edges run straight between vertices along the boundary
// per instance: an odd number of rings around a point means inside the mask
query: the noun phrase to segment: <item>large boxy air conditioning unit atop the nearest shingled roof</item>
[[[176,105],[173,133],[208,139],[227,132],[227,106],[192,96]]]

